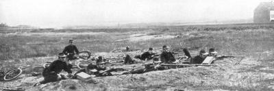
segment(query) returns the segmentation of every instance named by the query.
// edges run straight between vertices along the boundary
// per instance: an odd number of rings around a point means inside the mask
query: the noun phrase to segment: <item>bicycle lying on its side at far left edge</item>
[[[10,81],[12,79],[16,79],[23,73],[23,69],[28,68],[30,65],[20,66],[18,68],[14,68],[12,70],[8,70],[3,74],[4,81]]]

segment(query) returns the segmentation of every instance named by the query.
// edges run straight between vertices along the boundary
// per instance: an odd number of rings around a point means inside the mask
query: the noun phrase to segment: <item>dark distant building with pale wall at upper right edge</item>
[[[261,2],[254,10],[254,23],[274,23],[274,2]]]

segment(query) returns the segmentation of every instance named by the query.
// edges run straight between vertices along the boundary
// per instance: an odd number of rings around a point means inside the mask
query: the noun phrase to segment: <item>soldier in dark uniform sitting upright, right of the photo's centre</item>
[[[169,51],[169,47],[164,45],[162,49],[163,49],[163,52],[160,55],[161,62],[169,64],[176,61],[175,57],[173,56],[173,53]]]

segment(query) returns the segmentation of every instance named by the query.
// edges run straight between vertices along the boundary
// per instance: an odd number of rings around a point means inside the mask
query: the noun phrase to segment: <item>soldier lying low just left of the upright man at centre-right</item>
[[[156,53],[153,53],[153,49],[149,48],[149,51],[142,53],[141,55],[136,55],[135,58],[140,60],[151,60],[155,54]]]

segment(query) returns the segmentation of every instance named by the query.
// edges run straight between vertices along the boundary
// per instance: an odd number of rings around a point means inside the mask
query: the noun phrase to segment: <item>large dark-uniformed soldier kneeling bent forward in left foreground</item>
[[[68,77],[72,76],[72,71],[69,68],[69,66],[66,64],[67,57],[63,53],[59,53],[58,55],[59,59],[53,61],[49,67],[45,68],[42,72],[42,76],[44,77],[43,81],[40,81],[36,83],[34,86],[44,83],[49,83],[49,82],[54,82],[58,81],[58,74],[62,71],[65,70],[67,73],[69,73]]]

